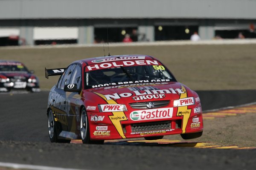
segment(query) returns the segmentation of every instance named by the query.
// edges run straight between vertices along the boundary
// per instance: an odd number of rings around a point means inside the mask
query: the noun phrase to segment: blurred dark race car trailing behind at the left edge
[[[17,61],[0,60],[0,92],[23,89],[40,92],[38,78]]]

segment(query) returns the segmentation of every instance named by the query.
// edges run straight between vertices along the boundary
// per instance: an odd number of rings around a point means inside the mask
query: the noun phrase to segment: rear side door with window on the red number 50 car
[[[62,130],[68,130],[67,115],[70,112],[70,102],[67,100],[64,85],[69,84],[73,69],[76,65],[70,65],[59,79],[52,95],[52,111],[58,122],[61,123]]]

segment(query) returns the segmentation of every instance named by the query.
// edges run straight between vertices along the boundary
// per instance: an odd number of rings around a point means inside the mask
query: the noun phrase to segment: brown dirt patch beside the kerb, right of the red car
[[[200,138],[189,141],[211,142],[225,146],[256,146],[255,127],[256,113],[204,119],[203,135]],[[164,139],[183,140],[180,135],[165,136]]]

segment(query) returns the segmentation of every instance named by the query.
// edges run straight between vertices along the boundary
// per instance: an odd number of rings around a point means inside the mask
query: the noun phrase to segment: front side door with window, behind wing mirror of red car
[[[73,70],[70,78],[70,84],[77,84],[81,88],[81,66],[79,64]],[[67,100],[70,101],[70,112],[67,117],[68,131],[77,131],[80,129],[80,107],[82,105],[80,92],[66,92]]]

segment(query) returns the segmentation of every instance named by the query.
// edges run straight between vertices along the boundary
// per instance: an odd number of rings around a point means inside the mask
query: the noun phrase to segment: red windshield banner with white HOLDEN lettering
[[[92,64],[85,68],[85,71],[93,71],[105,68],[115,68],[121,66],[133,66],[133,65],[159,65],[157,60],[134,60],[134,61],[116,61],[106,62],[102,64]]]

